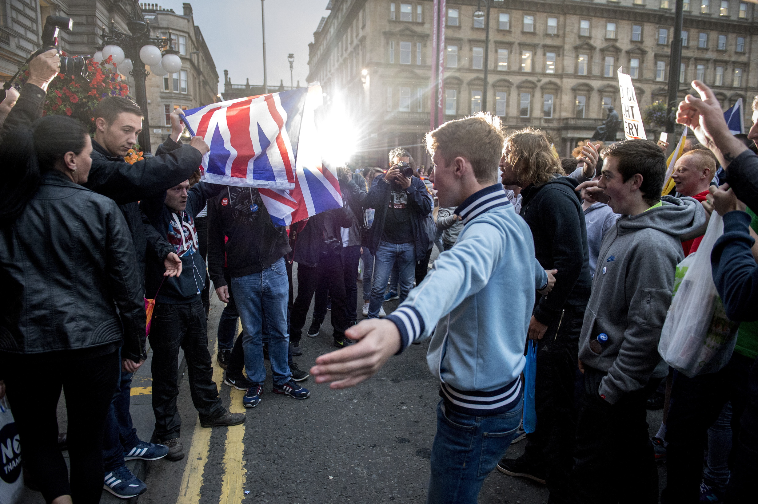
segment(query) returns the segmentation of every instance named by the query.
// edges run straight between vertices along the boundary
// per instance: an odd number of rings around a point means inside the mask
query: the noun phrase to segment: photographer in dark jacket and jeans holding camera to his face
[[[431,213],[432,199],[424,182],[400,173],[399,163],[409,163],[411,155],[403,148],[390,151],[390,169],[377,176],[363,200],[374,208],[374,223],[368,232],[368,250],[374,256],[374,284],[368,318],[377,319],[384,303],[384,291],[395,262],[399,266],[399,299],[406,300],[413,288],[416,261],[425,257],[429,237],[424,217]]]

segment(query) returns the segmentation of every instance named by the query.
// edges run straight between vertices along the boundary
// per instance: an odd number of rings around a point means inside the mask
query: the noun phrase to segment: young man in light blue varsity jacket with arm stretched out
[[[359,342],[318,357],[311,370],[318,383],[351,387],[434,331],[427,361],[443,398],[431,453],[434,504],[475,504],[515,437],[534,292],[553,284],[554,271],[534,259],[529,226],[497,181],[503,139],[500,120],[489,114],[428,133],[440,206],[457,207],[462,218],[458,241],[387,319],[350,328],[346,335]]]

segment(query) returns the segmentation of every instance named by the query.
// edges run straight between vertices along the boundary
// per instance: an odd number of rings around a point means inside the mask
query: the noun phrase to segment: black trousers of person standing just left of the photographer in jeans
[[[332,327],[334,339],[345,337],[347,329],[347,306],[345,294],[345,276],[340,256],[321,255],[321,263],[315,268],[297,265],[297,297],[292,308],[290,341],[299,343],[302,338],[302,326],[311,307],[311,300],[321,279],[327,282],[332,300]],[[325,302],[325,301],[324,301]]]

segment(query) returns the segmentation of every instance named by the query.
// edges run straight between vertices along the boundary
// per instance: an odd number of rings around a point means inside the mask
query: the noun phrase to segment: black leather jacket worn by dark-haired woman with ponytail
[[[42,185],[12,226],[0,229],[0,352],[121,346],[139,362],[145,307],[134,244],[113,200],[62,173]]]

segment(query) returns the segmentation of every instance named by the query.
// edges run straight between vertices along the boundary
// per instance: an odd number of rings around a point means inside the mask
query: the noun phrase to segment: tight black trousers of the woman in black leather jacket
[[[70,495],[77,504],[96,504],[102,495],[105,467],[102,441],[105,418],[121,377],[121,359],[114,352],[92,359],[70,359],[54,372],[50,362],[0,359],[8,402],[23,446],[23,467],[46,502]],[[58,449],[58,398],[66,394],[68,455],[71,474]]]

